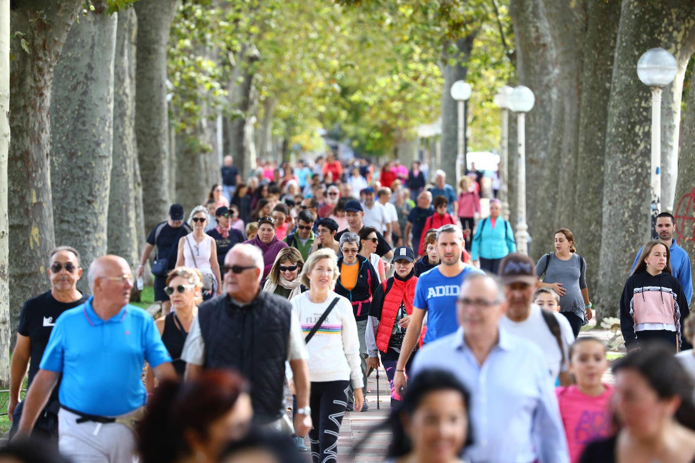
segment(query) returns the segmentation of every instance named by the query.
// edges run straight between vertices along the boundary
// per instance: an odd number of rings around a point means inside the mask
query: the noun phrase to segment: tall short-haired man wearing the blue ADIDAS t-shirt
[[[424,342],[450,335],[459,328],[456,319],[456,298],[468,273],[482,273],[471,264],[461,262],[464,233],[457,225],[444,225],[437,230],[436,247],[439,265],[420,275],[415,286],[413,314],[400,347],[393,387],[399,391],[405,385],[405,365],[418,342],[427,313],[427,333]]]

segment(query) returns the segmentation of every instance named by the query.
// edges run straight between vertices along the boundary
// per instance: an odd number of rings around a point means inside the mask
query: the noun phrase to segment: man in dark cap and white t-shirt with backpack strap
[[[571,378],[567,366],[574,334],[569,321],[561,314],[548,312],[531,303],[538,286],[535,265],[528,255],[522,253],[508,254],[500,262],[500,278],[505,285],[508,304],[507,316],[502,317],[500,326],[537,344],[546,356],[553,384],[559,377],[560,385],[569,385]]]

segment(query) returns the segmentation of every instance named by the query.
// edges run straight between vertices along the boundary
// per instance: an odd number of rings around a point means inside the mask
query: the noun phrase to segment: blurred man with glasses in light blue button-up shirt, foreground
[[[569,462],[546,360],[538,346],[499,328],[506,310],[496,277],[471,273],[457,300],[461,327],[424,346],[412,376],[447,369],[471,393],[471,461]]]

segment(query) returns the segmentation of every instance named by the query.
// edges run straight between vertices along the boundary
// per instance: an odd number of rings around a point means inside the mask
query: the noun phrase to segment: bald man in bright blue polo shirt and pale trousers
[[[154,320],[129,305],[133,276],[115,255],[90,265],[93,296],[58,317],[24,399],[17,436],[26,437],[62,373],[58,448],[75,461],[131,462],[135,435],[123,419],[147,403],[145,360],[159,380],[176,380]]]

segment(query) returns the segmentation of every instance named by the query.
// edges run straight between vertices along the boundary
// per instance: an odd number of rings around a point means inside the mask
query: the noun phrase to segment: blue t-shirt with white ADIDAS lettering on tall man
[[[464,264],[464,269],[457,276],[443,276],[439,271],[439,265],[420,275],[415,286],[413,306],[427,310],[427,333],[424,342],[432,342],[459,329],[456,298],[459,296],[464,278],[471,272],[482,273],[473,265]]]

